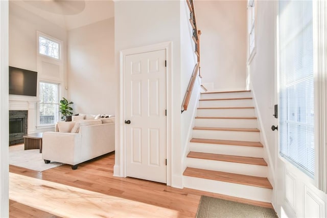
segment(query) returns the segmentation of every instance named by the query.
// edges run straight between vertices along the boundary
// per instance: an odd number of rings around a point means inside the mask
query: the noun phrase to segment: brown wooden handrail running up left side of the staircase
[[[182,113],[183,111],[188,110],[188,106],[190,103],[190,99],[191,99],[191,94],[193,91],[193,87],[195,84],[195,80],[196,80],[196,76],[199,72],[199,77],[202,78],[201,74],[200,74],[200,35],[201,35],[201,31],[198,30],[197,28],[197,24],[196,24],[196,16],[195,16],[195,10],[194,10],[194,1],[193,0],[186,0],[186,3],[189,6],[190,9],[190,23],[191,26],[193,28],[193,35],[192,35],[192,39],[194,41],[195,44],[195,54],[197,55],[197,63],[194,67],[193,73],[192,73],[192,77],[188,86],[188,89],[186,90],[185,93],[185,97],[182,103]]]

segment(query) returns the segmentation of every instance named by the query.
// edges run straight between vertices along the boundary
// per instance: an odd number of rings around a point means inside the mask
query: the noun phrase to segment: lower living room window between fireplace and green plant
[[[39,124],[51,125],[58,121],[59,117],[59,84],[40,82],[39,83]]]

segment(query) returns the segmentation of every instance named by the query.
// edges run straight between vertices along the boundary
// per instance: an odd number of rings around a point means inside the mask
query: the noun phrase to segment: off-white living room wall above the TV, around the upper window
[[[9,3],[9,65],[37,71],[37,39],[40,31],[63,41],[64,74],[66,72],[66,30],[15,4]]]

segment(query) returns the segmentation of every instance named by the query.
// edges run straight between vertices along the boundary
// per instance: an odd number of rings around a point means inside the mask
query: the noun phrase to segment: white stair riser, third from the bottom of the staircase
[[[190,150],[209,154],[235,155],[253,158],[262,158],[264,154],[263,147],[220,145],[194,142],[190,142]]]

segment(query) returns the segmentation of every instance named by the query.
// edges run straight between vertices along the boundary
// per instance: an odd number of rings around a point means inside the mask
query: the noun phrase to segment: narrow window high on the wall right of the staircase
[[[249,33],[249,54],[250,57],[254,55],[255,48],[255,8],[254,8],[254,0],[250,0],[248,2],[248,33]]]

